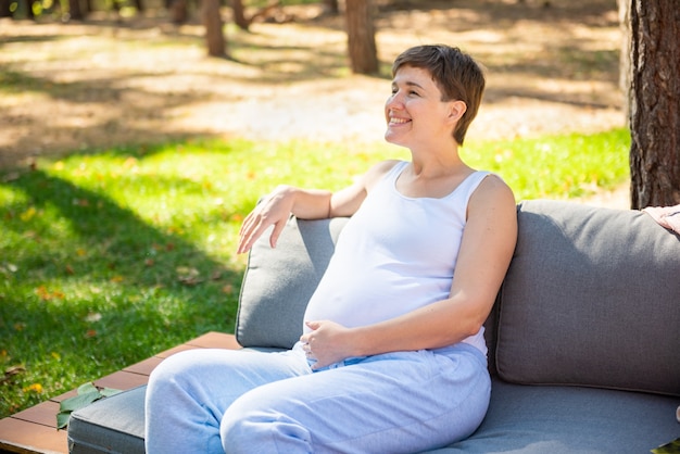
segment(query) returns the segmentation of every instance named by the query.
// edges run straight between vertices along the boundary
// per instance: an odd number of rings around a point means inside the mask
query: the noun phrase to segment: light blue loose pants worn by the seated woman
[[[300,345],[173,355],[147,389],[147,453],[415,453],[468,437],[487,412],[474,346],[352,363],[313,373]]]

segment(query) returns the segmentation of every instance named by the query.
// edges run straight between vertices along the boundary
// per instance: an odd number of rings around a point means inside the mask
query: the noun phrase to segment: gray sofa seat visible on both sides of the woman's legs
[[[144,393],[136,388],[74,412],[71,454],[144,454]],[[680,436],[680,400],[494,379],[489,412],[467,440],[431,453],[644,453]]]

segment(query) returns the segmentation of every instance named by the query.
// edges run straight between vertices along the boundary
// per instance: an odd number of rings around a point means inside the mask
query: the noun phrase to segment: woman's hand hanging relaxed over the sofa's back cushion
[[[241,254],[250,251],[257,238],[272,225],[274,225],[274,230],[269,236],[269,244],[272,248],[276,248],[278,237],[281,235],[284,227],[286,227],[286,222],[292,212],[293,199],[293,188],[279,186],[265,200],[260,202],[243,219],[241,230],[239,231],[237,253]]]

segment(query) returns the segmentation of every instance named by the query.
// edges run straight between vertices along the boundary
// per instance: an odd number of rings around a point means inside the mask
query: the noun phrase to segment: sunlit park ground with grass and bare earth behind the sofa
[[[152,4],[150,4],[152,7]],[[627,207],[616,0],[385,0],[379,74],[352,74],[342,15],[286,4],[0,20],[4,417],[209,330],[231,332],[238,226],[279,182],[339,188],[385,157],[390,63],[444,42],[488,72],[463,155],[518,200]]]

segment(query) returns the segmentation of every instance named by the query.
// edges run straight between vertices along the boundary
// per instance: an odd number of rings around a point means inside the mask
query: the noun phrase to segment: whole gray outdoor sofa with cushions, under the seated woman
[[[645,453],[680,437],[680,237],[639,211],[518,205],[519,238],[487,321],[491,404],[467,440],[437,453]],[[263,238],[236,335],[284,349],[347,219],[291,218]],[[452,390],[452,392],[454,392]],[[76,453],[143,453],[137,388],[73,414]]]

